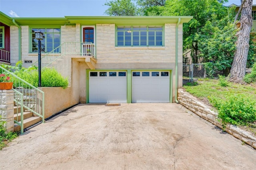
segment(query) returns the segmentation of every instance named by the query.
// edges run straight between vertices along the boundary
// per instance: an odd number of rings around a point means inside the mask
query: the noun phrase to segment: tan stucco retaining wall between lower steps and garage
[[[73,89],[68,87],[41,87],[44,92],[44,117],[50,117],[70,106],[79,103],[79,97],[76,96]]]

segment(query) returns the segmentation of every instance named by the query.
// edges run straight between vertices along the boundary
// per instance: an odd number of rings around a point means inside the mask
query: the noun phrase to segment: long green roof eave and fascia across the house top
[[[6,14],[0,12],[0,22],[11,26],[12,19],[18,25],[76,25],[76,23],[86,25],[96,25],[97,23],[115,23],[115,24],[164,24],[164,23],[180,23],[190,21],[192,16],[65,16],[64,18],[11,18]]]

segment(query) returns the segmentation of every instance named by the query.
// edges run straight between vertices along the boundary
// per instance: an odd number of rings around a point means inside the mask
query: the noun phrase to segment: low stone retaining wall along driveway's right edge
[[[178,101],[180,102],[180,104],[190,109],[192,112],[196,113],[198,116],[206,119],[207,121],[211,122],[217,127],[220,127],[221,129],[223,129],[222,123],[218,121],[218,117],[217,117],[218,113],[212,111],[209,106],[198,101],[197,98],[195,98],[185,90],[178,89]],[[230,124],[226,125],[225,130],[231,135],[233,135],[234,137],[240,139],[244,143],[256,149],[256,137],[252,136],[247,131],[244,131],[237,126],[230,125]]]

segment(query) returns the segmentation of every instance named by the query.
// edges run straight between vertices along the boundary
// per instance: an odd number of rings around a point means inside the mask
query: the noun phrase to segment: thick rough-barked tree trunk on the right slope
[[[230,70],[230,81],[238,83],[243,81],[246,70],[250,31],[252,27],[252,0],[246,0],[244,2],[244,6],[242,7],[241,12],[240,23],[241,27],[236,33],[236,52]]]

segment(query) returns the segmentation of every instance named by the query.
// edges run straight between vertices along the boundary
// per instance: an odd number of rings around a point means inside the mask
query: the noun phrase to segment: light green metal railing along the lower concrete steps
[[[28,82],[22,80],[21,78],[19,78],[9,70],[6,70],[6,68],[3,68],[2,66],[0,66],[0,72],[1,74],[9,76],[10,80],[13,82],[12,89],[14,90],[14,102],[16,102],[16,104],[18,105],[21,105],[23,102],[22,109],[31,111],[34,116],[41,117],[42,123],[44,123],[44,92],[36,88],[35,86],[32,86]],[[21,121],[18,122],[22,123]]]

